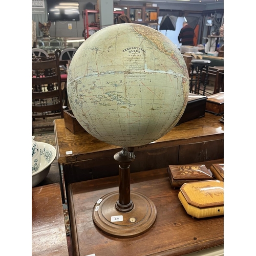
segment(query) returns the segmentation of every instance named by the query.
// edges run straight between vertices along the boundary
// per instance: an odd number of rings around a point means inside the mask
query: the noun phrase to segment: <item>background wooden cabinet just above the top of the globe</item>
[[[114,10],[124,11],[132,23],[158,23],[159,7],[151,6],[114,6]]]

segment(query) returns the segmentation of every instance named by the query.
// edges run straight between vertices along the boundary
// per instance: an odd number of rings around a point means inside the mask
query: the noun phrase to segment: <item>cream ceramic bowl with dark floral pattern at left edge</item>
[[[40,166],[37,172],[32,173],[32,187],[43,181],[49,173],[52,162],[56,158],[54,146],[45,142],[36,142],[40,150]]]

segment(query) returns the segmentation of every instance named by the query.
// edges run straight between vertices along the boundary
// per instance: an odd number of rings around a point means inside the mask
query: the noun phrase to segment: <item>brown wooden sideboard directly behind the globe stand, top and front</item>
[[[164,168],[169,164],[187,164],[224,158],[224,124],[220,116],[204,117],[175,126],[162,138],[135,147],[131,173]],[[87,132],[73,134],[64,119],[54,120],[58,164],[63,186],[118,175],[114,154],[121,147],[99,141]]]

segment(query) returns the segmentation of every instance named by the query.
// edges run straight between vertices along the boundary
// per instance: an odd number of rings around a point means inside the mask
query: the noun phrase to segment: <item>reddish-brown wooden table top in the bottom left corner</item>
[[[59,183],[32,188],[32,255],[69,255]]]

